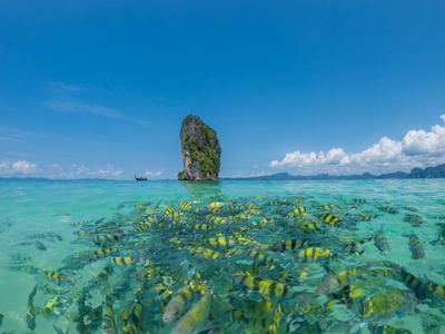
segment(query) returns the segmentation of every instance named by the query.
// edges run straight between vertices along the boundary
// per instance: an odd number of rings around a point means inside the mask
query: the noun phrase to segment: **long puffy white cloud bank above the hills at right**
[[[445,115],[441,118],[445,121]],[[314,169],[329,173],[360,173],[380,168],[378,170],[384,173],[382,167],[397,170],[403,167],[424,167],[443,163],[445,163],[445,126],[435,125],[428,132],[411,130],[402,140],[383,137],[373,147],[360,153],[348,154],[342,148],[333,148],[327,154],[296,150],[287,154],[280,161],[273,160],[269,167],[297,167],[305,168],[308,173]]]

